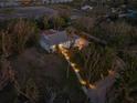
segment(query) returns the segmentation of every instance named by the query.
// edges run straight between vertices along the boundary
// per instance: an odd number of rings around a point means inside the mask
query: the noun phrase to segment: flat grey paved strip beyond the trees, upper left
[[[57,14],[57,11],[46,7],[18,7],[8,8],[11,9],[11,13],[0,13],[0,19],[12,19],[12,18],[39,18],[42,16]],[[0,9],[2,11],[3,9]]]

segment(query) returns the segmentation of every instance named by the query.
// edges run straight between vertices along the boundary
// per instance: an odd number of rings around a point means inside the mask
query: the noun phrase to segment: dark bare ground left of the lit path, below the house
[[[50,84],[61,92],[65,91],[71,97],[71,103],[85,101],[73,71],[70,71],[70,79],[66,79],[67,63],[59,54],[48,54],[32,48],[13,59],[12,66],[17,71],[17,80],[22,89],[31,79],[41,91]]]

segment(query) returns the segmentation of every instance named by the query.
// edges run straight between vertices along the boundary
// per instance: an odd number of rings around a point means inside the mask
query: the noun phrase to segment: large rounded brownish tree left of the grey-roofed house
[[[15,52],[21,53],[29,41],[38,42],[36,27],[33,22],[19,19],[9,25],[8,32],[13,42],[13,49]],[[33,43],[34,43],[33,42]],[[29,45],[29,44],[28,44]]]

